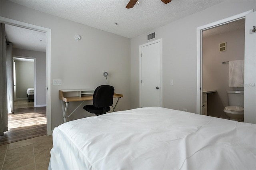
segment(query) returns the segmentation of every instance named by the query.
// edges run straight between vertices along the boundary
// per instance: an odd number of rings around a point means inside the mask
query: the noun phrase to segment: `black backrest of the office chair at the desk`
[[[109,107],[113,105],[114,87],[100,85],[94,91],[92,103],[94,107]]]

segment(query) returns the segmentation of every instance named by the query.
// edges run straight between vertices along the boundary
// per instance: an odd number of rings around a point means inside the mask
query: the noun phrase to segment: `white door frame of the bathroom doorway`
[[[227,24],[229,22],[233,22],[236,20],[240,20],[245,18],[245,16],[249,13],[253,12],[253,10],[248,10],[246,12],[242,12],[240,14],[224,18],[222,20],[218,20],[216,22],[212,22],[210,24],[206,24],[204,26],[200,26],[196,28],[196,53],[197,53],[197,71],[196,71],[196,113],[202,114],[202,32],[204,30],[208,30],[210,28],[214,28],[216,26],[220,26],[223,24]]]

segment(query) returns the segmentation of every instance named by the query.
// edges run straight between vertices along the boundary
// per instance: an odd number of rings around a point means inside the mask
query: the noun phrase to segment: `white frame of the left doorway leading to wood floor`
[[[46,33],[46,134],[51,135],[51,29],[28,24],[25,22],[20,22],[17,20],[12,20],[2,16],[0,17],[0,21],[1,23],[4,24],[9,24],[12,26],[18,26]]]

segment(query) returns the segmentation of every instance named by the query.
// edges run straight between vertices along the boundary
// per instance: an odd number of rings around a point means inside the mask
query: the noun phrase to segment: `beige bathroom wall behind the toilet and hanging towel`
[[[222,61],[244,59],[244,29],[203,37],[203,89],[214,89],[208,94],[208,115],[228,118],[223,109],[228,106],[227,90],[244,91],[244,87],[228,87],[229,64]],[[219,52],[219,43],[226,42],[226,51]]]

